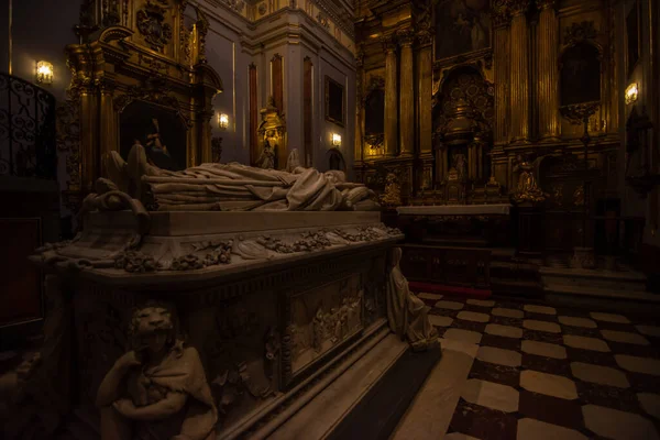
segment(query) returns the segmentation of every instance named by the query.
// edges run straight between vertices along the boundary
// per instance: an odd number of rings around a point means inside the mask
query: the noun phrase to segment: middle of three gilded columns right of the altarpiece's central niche
[[[529,44],[527,29],[527,7],[529,0],[510,1],[510,109],[514,143],[529,141]]]

